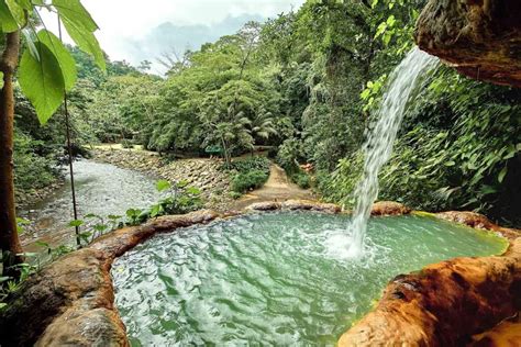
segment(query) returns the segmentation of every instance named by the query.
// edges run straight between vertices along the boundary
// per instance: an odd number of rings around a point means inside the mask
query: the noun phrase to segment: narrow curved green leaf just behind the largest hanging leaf
[[[69,91],[73,89],[78,71],[76,69],[76,63],[70,52],[65,48],[58,37],[47,30],[41,30],[37,33],[37,38],[41,43],[47,46],[48,49],[54,54],[59,63],[62,74],[64,75],[65,90]]]

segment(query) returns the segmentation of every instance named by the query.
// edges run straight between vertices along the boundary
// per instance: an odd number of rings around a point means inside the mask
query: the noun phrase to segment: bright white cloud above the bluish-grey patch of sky
[[[97,36],[112,59],[135,63],[135,47],[129,42],[145,38],[159,24],[211,25],[241,14],[275,16],[300,7],[304,0],[82,0],[100,26]],[[44,11],[45,12],[45,11]],[[56,31],[54,14],[42,13],[45,23]],[[142,58],[142,57],[140,57]],[[153,60],[155,56],[148,57]]]

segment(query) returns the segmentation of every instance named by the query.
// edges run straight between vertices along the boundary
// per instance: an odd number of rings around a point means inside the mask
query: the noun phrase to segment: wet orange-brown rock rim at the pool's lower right
[[[342,335],[339,346],[465,346],[478,344],[473,335],[489,329],[481,343],[500,340],[505,331],[508,338],[517,336],[520,325],[498,324],[521,311],[521,234],[476,213],[437,216],[505,232],[510,248],[503,256],[455,258],[395,278],[376,309]]]

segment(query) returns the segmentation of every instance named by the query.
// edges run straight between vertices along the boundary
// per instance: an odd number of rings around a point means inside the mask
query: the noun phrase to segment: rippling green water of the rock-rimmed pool
[[[133,346],[333,345],[399,273],[507,242],[421,216],[373,219],[366,254],[344,257],[348,216],[246,215],[138,245],[112,268]]]

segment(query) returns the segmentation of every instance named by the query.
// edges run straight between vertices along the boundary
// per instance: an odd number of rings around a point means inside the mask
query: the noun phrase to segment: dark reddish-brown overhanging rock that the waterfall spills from
[[[430,0],[414,36],[464,75],[521,88],[519,0]]]

